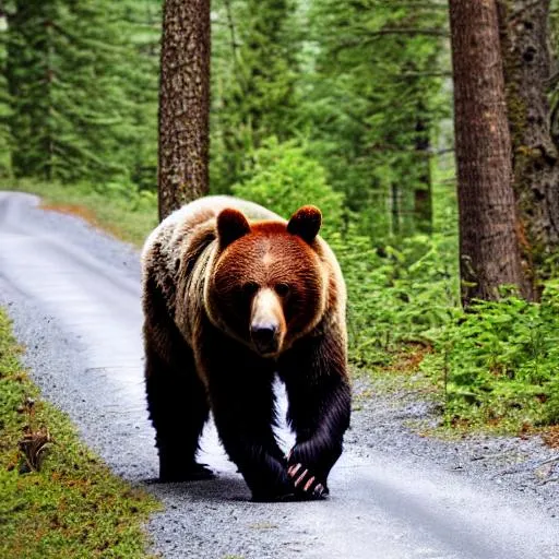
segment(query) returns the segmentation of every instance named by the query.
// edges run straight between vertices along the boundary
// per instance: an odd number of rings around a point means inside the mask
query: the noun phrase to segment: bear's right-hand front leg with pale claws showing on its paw
[[[297,492],[310,498],[328,495],[328,475],[342,454],[349,426],[350,389],[343,335],[330,331],[297,342],[280,359],[296,432],[288,455],[288,475]]]

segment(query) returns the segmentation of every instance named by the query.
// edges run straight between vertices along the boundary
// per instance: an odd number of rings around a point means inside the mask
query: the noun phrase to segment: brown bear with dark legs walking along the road
[[[142,253],[145,383],[159,479],[213,477],[197,463],[210,409],[254,500],[328,495],[349,424],[346,293],[304,206],[286,222],[251,202],[207,197],[176,211]],[[296,443],[280,449],[275,377]]]

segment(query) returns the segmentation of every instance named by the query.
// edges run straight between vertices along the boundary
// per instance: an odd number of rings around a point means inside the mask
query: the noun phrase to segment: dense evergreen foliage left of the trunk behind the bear
[[[126,185],[146,164],[154,176],[156,68],[134,50],[129,9],[13,3],[4,75],[17,177]]]

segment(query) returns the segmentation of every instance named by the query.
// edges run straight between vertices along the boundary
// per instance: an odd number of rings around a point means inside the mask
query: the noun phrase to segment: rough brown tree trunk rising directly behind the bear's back
[[[159,92],[159,218],[209,191],[210,0],[166,0]]]

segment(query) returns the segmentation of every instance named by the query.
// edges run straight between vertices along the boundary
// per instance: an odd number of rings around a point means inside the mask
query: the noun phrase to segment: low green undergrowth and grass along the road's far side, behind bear
[[[525,433],[559,423],[559,284],[545,284],[540,302],[513,294],[476,301],[464,311],[457,283],[457,233],[447,166],[436,177],[436,230],[394,242],[371,242],[344,197],[326,181],[305,145],[272,139],[251,154],[235,195],[288,216],[312,200],[324,214],[323,235],[348,287],[349,358],[355,374],[384,376],[442,409],[439,432],[472,429]],[[450,170],[452,171],[452,169]],[[85,216],[140,247],[155,223],[150,193],[92,192],[83,187],[20,182],[46,207]]]

